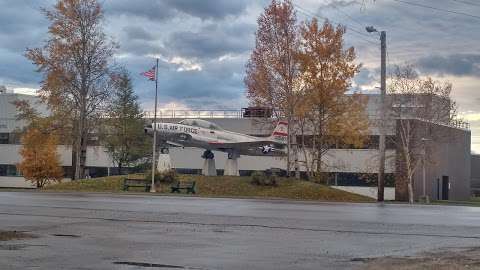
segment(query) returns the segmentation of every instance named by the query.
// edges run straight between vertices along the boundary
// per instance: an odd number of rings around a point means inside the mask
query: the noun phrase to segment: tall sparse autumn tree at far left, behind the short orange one
[[[72,179],[85,176],[87,142],[106,111],[117,45],[104,32],[101,1],[57,0],[42,9],[50,22],[44,45],[26,57],[43,80],[39,95],[62,117],[72,145]]]

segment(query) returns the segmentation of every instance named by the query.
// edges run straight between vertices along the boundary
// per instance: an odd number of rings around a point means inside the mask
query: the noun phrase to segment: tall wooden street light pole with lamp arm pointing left
[[[373,26],[367,26],[365,28],[367,32],[373,33],[378,32]],[[386,80],[387,80],[387,65],[386,65],[386,54],[387,54],[387,33],[385,31],[380,31],[380,49],[381,49],[381,70],[380,70],[380,136],[379,136],[379,166],[378,166],[378,193],[377,201],[384,201],[384,190],[385,190],[385,96],[386,96]]]

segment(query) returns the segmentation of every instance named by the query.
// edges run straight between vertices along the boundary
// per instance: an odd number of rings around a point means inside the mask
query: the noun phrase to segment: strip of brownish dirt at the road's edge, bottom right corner
[[[441,252],[427,252],[415,257],[384,257],[356,261],[363,261],[365,265],[360,269],[365,270],[480,269],[480,247]]]

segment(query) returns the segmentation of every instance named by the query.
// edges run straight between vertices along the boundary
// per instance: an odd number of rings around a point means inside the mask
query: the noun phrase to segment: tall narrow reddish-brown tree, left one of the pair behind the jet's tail
[[[295,57],[298,45],[298,25],[292,2],[272,0],[258,18],[255,48],[246,66],[244,82],[252,105],[272,108],[277,119],[289,122],[288,172],[294,160],[292,123],[300,101]]]

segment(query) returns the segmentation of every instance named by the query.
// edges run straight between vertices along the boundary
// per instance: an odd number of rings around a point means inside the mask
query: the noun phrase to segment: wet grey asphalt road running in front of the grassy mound
[[[0,192],[0,269],[352,269],[480,246],[480,208]],[[150,268],[151,267],[151,268]]]

